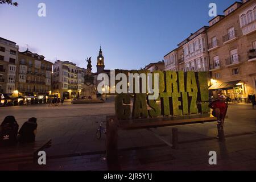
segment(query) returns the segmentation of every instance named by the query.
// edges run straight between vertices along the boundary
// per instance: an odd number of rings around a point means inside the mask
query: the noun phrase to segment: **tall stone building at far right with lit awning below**
[[[209,22],[207,30],[213,95],[234,100],[256,93],[256,2],[234,2]]]

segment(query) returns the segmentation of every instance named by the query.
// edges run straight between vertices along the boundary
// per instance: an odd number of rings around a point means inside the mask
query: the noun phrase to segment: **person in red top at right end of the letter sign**
[[[221,130],[224,127],[224,119],[226,111],[228,110],[228,104],[226,104],[226,97],[221,94],[217,100],[210,102],[209,107],[213,110],[212,115],[217,118],[218,124],[221,125]]]

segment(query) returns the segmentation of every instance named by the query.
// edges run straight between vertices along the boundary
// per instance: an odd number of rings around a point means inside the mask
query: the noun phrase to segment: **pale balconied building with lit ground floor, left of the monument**
[[[76,98],[82,89],[82,68],[69,61],[53,64],[52,94],[59,98]]]

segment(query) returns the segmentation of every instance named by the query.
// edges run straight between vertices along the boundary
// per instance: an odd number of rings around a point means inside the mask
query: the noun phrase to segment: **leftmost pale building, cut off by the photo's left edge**
[[[0,38],[0,93],[15,90],[18,50],[15,42]]]

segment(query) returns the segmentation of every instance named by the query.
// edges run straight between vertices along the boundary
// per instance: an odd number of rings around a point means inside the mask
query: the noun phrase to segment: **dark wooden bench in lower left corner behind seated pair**
[[[8,163],[36,162],[38,152],[51,146],[51,139],[0,147],[0,166]]]

